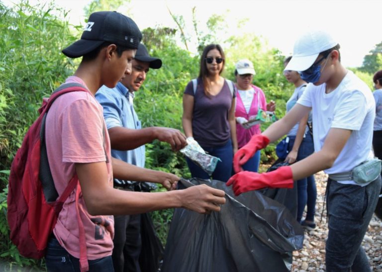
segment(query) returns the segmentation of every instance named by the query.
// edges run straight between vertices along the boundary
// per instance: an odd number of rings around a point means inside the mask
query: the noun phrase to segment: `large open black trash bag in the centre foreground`
[[[235,197],[217,180],[181,180],[178,189],[198,184],[226,192],[220,212],[175,209],[162,272],[283,272],[291,252],[302,248],[304,232],[282,204],[259,192]]]

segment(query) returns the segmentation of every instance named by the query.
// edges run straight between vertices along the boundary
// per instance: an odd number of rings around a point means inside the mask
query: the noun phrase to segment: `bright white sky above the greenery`
[[[18,0],[0,0],[6,5]],[[45,0],[38,0],[42,2]],[[30,0],[31,3],[37,0]],[[57,6],[70,10],[73,24],[83,24],[83,8],[91,0],[55,0]],[[173,14],[183,15],[192,32],[191,8],[196,6],[199,26],[205,27],[212,14],[224,14],[230,27],[227,36],[255,33],[268,39],[284,55],[293,51],[296,38],[308,28],[323,28],[341,45],[342,63],[359,67],[363,58],[382,41],[379,35],[382,0],[131,0],[118,11],[129,10],[140,29],[155,26],[176,28]],[[229,10],[229,11],[227,11]],[[249,20],[240,29],[240,20]]]

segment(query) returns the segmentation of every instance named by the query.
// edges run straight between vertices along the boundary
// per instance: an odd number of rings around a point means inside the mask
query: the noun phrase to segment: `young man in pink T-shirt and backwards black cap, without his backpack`
[[[58,194],[75,174],[80,184],[63,205],[48,243],[48,271],[113,271],[114,220],[107,214],[136,214],[169,207],[207,213],[219,211],[219,204],[225,203],[223,191],[205,185],[172,191],[179,180],[176,175],[111,157],[102,107],[94,95],[102,85],[113,88],[130,73],[141,38],[130,18],[100,11],[90,15],[81,39],[63,50],[70,58],[83,57],[66,83],[80,83],[88,92],[61,95],[46,119],[48,160]],[[161,183],[170,192],[117,190],[113,189],[113,178]],[[85,229],[85,259],[78,218]]]

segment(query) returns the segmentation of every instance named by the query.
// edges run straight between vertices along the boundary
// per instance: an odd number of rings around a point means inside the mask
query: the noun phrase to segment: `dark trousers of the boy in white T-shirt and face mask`
[[[361,243],[376,208],[380,190],[381,176],[365,187],[328,180],[327,272],[371,271]]]

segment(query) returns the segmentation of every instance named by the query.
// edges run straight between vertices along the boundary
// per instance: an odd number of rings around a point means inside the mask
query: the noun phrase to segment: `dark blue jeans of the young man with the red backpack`
[[[54,235],[46,248],[45,263],[49,272],[80,272],[80,260],[70,255]],[[114,272],[111,255],[88,263],[90,272]]]

